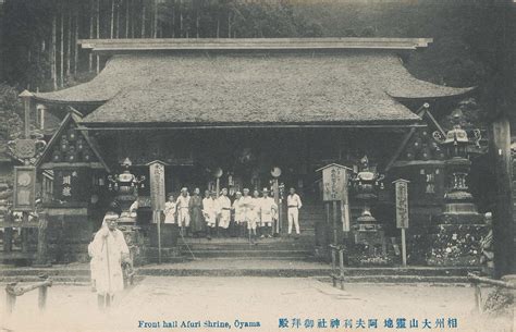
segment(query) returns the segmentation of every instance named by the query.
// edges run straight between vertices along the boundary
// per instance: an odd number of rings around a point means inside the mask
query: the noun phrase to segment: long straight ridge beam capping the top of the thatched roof
[[[83,49],[114,54],[145,51],[256,51],[256,50],[415,50],[432,38],[150,38],[82,39]]]

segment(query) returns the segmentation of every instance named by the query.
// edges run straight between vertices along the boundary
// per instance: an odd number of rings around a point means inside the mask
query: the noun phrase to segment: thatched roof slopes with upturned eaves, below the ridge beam
[[[470,88],[419,81],[389,51],[114,56],[91,82],[39,100],[101,103],[83,123],[414,123],[396,98]]]

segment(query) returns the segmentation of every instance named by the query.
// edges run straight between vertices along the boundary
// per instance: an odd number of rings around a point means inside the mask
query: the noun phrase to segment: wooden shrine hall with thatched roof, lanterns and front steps
[[[119,226],[135,263],[156,261],[149,168],[158,162],[163,193],[177,197],[186,187],[189,195],[194,188],[219,195],[228,188],[233,201],[244,188],[260,195],[267,188],[279,207],[274,237],[245,249],[246,237],[209,242],[163,229],[165,261],[188,256],[189,249],[197,257],[327,260],[331,243],[345,243],[349,265],[398,265],[393,182],[404,180],[408,262],[479,263],[472,254],[478,241],[453,253],[446,245],[452,234],[453,241],[480,238],[487,230],[469,188],[476,188],[469,172],[482,155],[481,135],[460,121],[475,88],[418,79],[405,66],[432,39],[79,44],[106,61],[97,76],[32,97],[33,108],[42,106],[60,120],[37,161],[50,261],[86,261],[91,234],[113,201],[122,210]],[[345,198],[339,201],[324,195],[327,167],[345,172]],[[303,201],[296,239],[286,236],[291,187]],[[135,201],[137,209],[130,211]],[[231,251],[237,244],[243,249]]]

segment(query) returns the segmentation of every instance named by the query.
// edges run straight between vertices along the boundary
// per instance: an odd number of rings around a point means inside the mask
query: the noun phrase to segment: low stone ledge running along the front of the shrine
[[[347,268],[349,283],[467,283],[467,273],[478,269],[463,267]],[[330,266],[316,261],[205,258],[179,263],[148,265],[136,269],[136,281],[147,276],[261,276],[328,279]],[[89,265],[73,263],[51,268],[0,266],[0,282],[34,282],[48,274],[56,284],[89,284]]]

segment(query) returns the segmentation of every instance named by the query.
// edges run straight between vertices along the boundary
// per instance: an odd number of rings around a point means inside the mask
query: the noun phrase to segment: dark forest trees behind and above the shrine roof
[[[415,76],[443,85],[479,86],[481,109],[493,110],[503,98],[495,38],[501,32],[501,13],[482,1],[5,0],[2,48],[7,82],[20,89],[48,90],[90,77],[85,74],[89,57],[81,52],[79,71],[66,72],[60,84],[52,84],[51,60],[62,72],[61,21],[63,61],[70,61],[66,45],[74,42],[66,39],[67,22],[77,24],[78,38],[89,38],[90,33],[96,36],[97,3],[100,38],[109,38],[111,30],[120,38],[155,34],[163,38],[432,37],[434,42],[427,50],[403,58]],[[56,54],[51,52],[52,20],[58,22]]]

